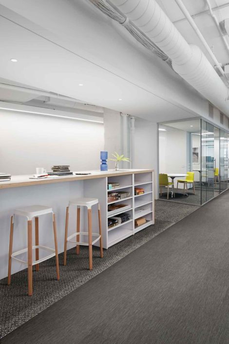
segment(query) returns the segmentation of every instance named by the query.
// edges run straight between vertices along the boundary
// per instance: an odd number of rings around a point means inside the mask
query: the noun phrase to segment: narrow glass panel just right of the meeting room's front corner
[[[201,120],[201,204],[214,197],[214,127]]]

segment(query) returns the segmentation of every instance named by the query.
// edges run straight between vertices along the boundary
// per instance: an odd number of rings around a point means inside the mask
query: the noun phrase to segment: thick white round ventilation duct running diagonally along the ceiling
[[[189,44],[155,0],[109,0],[172,59],[173,69],[229,115],[228,88],[201,49]]]

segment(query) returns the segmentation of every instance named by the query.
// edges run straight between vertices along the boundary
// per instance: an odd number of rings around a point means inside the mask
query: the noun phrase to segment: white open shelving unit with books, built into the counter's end
[[[120,186],[114,189],[107,189],[109,182],[118,182]],[[143,187],[145,193],[142,195],[134,196],[134,186]],[[102,237],[103,247],[109,248],[115,243],[118,243],[131,235],[139,232],[140,230],[154,224],[154,183],[153,183],[153,172],[130,172],[125,175],[117,175],[111,177],[104,177],[95,180],[84,181],[84,196],[95,197],[99,199],[101,206],[102,215]],[[116,191],[129,191],[130,197],[126,199],[117,200],[114,202],[108,202],[108,192]],[[127,204],[130,206],[129,209],[119,210],[115,214],[109,214],[108,205],[113,203]],[[141,210],[141,212],[139,212]],[[108,218],[121,214],[129,213],[131,219],[125,223],[120,223],[115,227],[108,228]],[[97,219],[97,208],[92,207],[93,216],[93,232],[98,232],[98,219]],[[134,220],[144,216],[147,220],[146,223],[135,228]],[[87,215],[84,216],[84,222],[87,223]],[[96,243],[98,246],[99,244]]]

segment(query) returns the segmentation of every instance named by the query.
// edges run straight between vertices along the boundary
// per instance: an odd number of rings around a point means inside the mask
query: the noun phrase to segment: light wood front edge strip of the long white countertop
[[[108,173],[108,174],[102,174],[102,175],[86,175],[86,176],[78,176],[78,177],[63,177],[63,178],[57,178],[57,179],[47,179],[42,181],[33,180],[33,182],[8,182],[1,184],[0,182],[0,189],[7,189],[11,187],[21,187],[21,186],[32,186],[32,185],[41,185],[41,184],[53,184],[53,183],[59,183],[59,182],[76,182],[76,181],[82,181],[85,179],[97,179],[97,178],[105,178],[105,177],[115,177],[115,176],[124,176],[127,174],[138,174],[138,173],[146,173],[146,172],[154,172],[154,170],[140,170],[140,171],[127,171],[127,172],[120,172],[120,173]]]

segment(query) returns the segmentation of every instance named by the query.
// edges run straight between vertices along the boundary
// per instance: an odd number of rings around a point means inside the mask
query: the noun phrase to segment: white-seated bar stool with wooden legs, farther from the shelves
[[[39,245],[39,223],[38,216],[44,214],[52,214],[53,216],[53,230],[54,230],[54,242],[55,249]],[[13,250],[13,231],[14,231],[14,218],[15,215],[24,216],[28,219],[28,247],[20,251],[12,253]],[[33,246],[33,237],[32,237],[32,224],[33,218],[35,218],[35,243]],[[46,251],[51,251],[52,253],[44,258],[39,259],[39,248],[42,248]],[[36,260],[33,262],[33,249],[36,249]],[[22,261],[19,258],[16,258],[19,254],[28,252],[28,261]],[[8,264],[8,285],[11,283],[11,263],[12,259],[28,265],[28,295],[33,294],[33,265],[36,264],[36,271],[39,271],[39,263],[46,261],[47,259],[56,256],[56,269],[57,269],[57,280],[59,280],[59,264],[58,264],[58,247],[57,247],[57,227],[56,227],[56,218],[53,213],[53,209],[43,205],[30,205],[21,207],[14,211],[14,215],[11,216],[10,223],[10,244],[9,244],[9,264]]]

